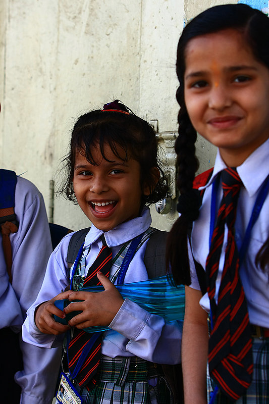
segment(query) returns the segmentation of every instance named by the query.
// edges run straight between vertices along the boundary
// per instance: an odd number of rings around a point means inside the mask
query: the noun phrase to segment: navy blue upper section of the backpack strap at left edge
[[[17,175],[15,171],[0,170],[0,209],[15,207],[15,188]]]

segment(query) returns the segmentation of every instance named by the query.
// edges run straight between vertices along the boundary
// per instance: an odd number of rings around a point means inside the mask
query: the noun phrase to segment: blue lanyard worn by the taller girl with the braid
[[[217,206],[217,192],[218,192],[218,188],[219,188],[219,183],[220,183],[220,176],[218,176],[213,184],[212,184],[212,196],[211,196],[211,208],[210,208],[210,231],[209,231],[209,246],[211,244],[211,238],[212,238],[212,234],[214,231],[214,226],[215,226],[215,221],[216,221],[216,206]],[[250,241],[250,234],[251,234],[251,230],[252,227],[254,226],[256,220],[258,219],[259,213],[261,211],[262,205],[264,203],[264,200],[268,194],[268,190],[269,190],[269,175],[265,178],[258,196],[255,200],[255,204],[250,216],[250,220],[248,222],[247,225],[247,229],[243,238],[243,242],[241,244],[241,248],[239,250],[239,262],[242,263],[243,259],[245,258],[246,252],[247,252],[247,248],[249,245],[249,241]],[[213,328],[213,322],[212,322],[212,313],[211,313],[211,309],[210,309],[210,321],[211,321],[211,328]],[[219,390],[219,387],[216,386],[214,388],[214,390],[211,392],[210,394],[210,401],[209,404],[213,404],[217,392]]]

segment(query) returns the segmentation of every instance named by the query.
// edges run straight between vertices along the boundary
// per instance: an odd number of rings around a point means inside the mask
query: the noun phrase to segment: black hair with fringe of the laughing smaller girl
[[[66,178],[60,193],[77,203],[73,188],[76,154],[79,152],[90,164],[98,165],[94,156],[97,145],[103,159],[110,161],[104,153],[105,144],[109,144],[114,155],[123,162],[132,158],[140,164],[141,188],[147,185],[150,189],[149,195],[142,195],[141,206],[165,198],[169,184],[165,174],[166,163],[158,157],[156,132],[148,122],[139,118],[124,104],[119,104],[118,100],[105,104],[103,110],[87,112],[76,121],[69,153],[62,162],[65,165]],[[153,168],[159,171],[158,179]]]

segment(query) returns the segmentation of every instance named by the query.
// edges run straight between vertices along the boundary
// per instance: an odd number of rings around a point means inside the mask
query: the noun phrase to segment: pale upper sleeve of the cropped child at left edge
[[[40,290],[52,245],[43,197],[30,181],[20,177],[16,185],[15,213],[19,230],[10,237],[12,287],[25,318]]]

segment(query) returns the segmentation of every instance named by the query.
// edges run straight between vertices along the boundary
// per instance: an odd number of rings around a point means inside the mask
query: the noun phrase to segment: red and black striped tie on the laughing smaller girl
[[[96,257],[94,263],[88,270],[87,276],[84,280],[84,286],[100,285],[97,273],[101,271],[106,277],[110,274],[110,268],[112,265],[112,250],[105,243],[104,236],[101,236],[102,247]],[[97,372],[97,368],[100,362],[100,348],[102,342],[102,332],[88,333],[84,330],[73,329],[74,333],[68,346],[68,366],[70,373],[73,375],[78,366],[80,368],[76,380],[81,387],[85,385],[89,386],[89,382],[95,384],[93,376]],[[81,354],[83,349],[87,349],[87,344],[92,345],[86,358],[81,363]],[[89,345],[88,345],[89,346]],[[85,350],[84,350],[85,352]]]

